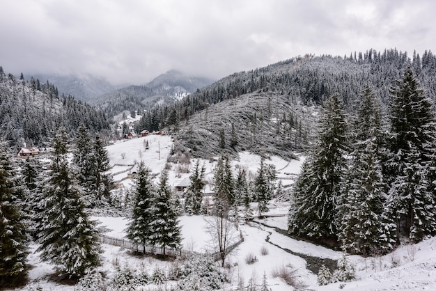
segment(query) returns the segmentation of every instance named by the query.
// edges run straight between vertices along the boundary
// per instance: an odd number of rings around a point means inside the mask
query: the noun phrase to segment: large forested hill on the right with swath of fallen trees
[[[408,64],[428,96],[436,100],[432,52],[409,56],[396,49],[370,49],[344,57],[307,55],[232,74],[179,102],[154,107],[144,114],[138,130],[169,128],[196,155],[249,149],[289,157],[287,152],[303,149],[311,141],[316,110],[308,107],[338,93],[345,111],[352,113],[359,91],[369,84],[382,100],[384,112],[389,87]]]

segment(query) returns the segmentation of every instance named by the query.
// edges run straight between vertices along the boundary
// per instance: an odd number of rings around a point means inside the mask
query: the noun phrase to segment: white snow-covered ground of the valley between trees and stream
[[[147,150],[144,146],[146,140],[149,144]],[[108,146],[111,164],[116,165],[112,169],[112,173],[118,173],[114,177],[115,180],[123,180],[121,184],[124,187],[131,187],[134,181],[127,178],[127,173],[134,171],[134,168],[130,169],[130,167],[141,160],[152,173],[160,173],[165,166],[166,157],[171,151],[171,145],[170,136],[150,135],[139,139],[120,141]],[[299,161],[288,163],[277,157],[271,157],[265,162],[276,166],[279,172],[278,177],[283,178],[283,184],[290,184],[292,180],[289,178],[299,173],[299,167],[303,160],[304,157]],[[191,166],[194,162],[195,160],[191,161]],[[206,179],[211,179],[215,162],[209,160],[201,162],[204,162],[206,167]],[[240,159],[233,162],[232,165],[234,173],[237,173],[236,170],[239,167],[247,168],[249,172],[256,173],[259,164],[260,157],[251,155],[249,152],[242,152]],[[178,173],[175,166],[172,167],[169,173],[169,182],[173,186],[189,177],[189,173]],[[155,181],[157,179],[158,176]],[[256,207],[255,204],[253,206]],[[271,290],[293,290],[280,278],[273,278],[272,271],[281,267],[292,269],[299,286],[308,290],[436,290],[435,237],[416,245],[402,246],[393,253],[378,258],[350,256],[350,260],[357,270],[356,281],[318,286],[316,274],[307,269],[306,260],[286,250],[334,260],[341,258],[342,253],[292,239],[277,232],[276,228],[282,230],[287,228],[286,215],[289,203],[271,201],[269,206],[270,212],[267,214],[281,214],[282,216],[255,220],[249,225],[240,225],[238,235],[240,231],[244,237],[244,242],[228,255],[227,262],[231,268],[226,269],[226,274],[231,279],[231,283],[224,283],[221,290],[234,290],[240,280],[244,282],[244,285],[247,285],[250,279],[260,285],[263,274],[266,275],[267,284]],[[100,226],[104,226],[108,230],[106,235],[118,238],[123,238],[125,235],[127,219],[121,217],[94,217],[94,219],[100,222]],[[198,252],[210,251],[212,247],[211,237],[205,229],[204,217],[180,217],[180,224],[183,235],[182,245],[185,249]],[[269,239],[269,242],[266,239]],[[33,245],[32,249],[36,249],[36,246]],[[116,266],[128,265],[133,269],[146,269],[150,273],[157,266],[168,269],[171,264],[171,262],[157,260],[153,257],[135,256],[125,249],[108,244],[103,244],[103,249],[104,261],[98,270],[107,274],[107,278],[111,277]],[[267,254],[265,254],[265,249]],[[257,258],[257,261],[250,265],[245,262],[249,255],[254,255]],[[29,255],[29,264],[32,266],[29,271],[29,285],[21,290],[37,290],[38,287],[42,288],[40,290],[74,290],[74,286],[61,285],[61,283],[56,283],[50,279],[49,275],[53,274],[54,270],[45,262],[40,262],[37,253]]]

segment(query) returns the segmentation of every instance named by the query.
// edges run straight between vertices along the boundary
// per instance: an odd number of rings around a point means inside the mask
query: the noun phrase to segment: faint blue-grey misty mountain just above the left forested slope
[[[95,97],[116,90],[116,87],[109,84],[104,79],[93,77],[87,74],[83,77],[75,75],[61,76],[52,74],[36,74],[34,79],[41,82],[49,81],[59,90],[60,95],[72,95],[77,100],[89,102]]]

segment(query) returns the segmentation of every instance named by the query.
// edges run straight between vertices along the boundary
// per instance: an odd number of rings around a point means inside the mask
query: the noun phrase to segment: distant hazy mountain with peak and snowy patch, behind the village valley
[[[177,70],[170,70],[148,84],[120,88],[98,97],[91,104],[112,118],[126,110],[141,112],[152,109],[156,104],[171,104],[211,83],[210,79],[189,77]]]

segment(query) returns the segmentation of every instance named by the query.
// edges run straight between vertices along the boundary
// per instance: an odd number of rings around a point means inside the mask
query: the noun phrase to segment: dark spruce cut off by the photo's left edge
[[[29,236],[17,205],[17,182],[6,145],[0,144],[0,287],[24,281]]]

